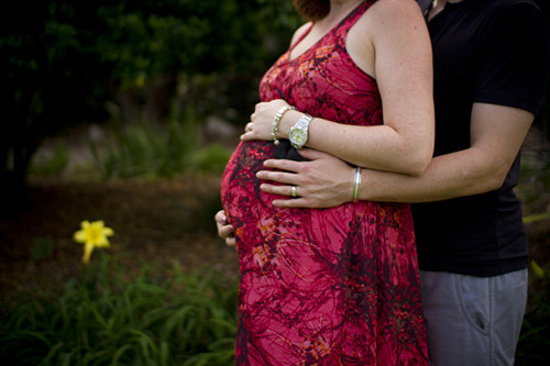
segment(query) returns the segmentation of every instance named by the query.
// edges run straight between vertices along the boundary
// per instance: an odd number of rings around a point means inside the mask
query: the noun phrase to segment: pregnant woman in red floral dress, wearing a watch
[[[310,22],[263,77],[222,178],[241,276],[235,364],[427,365],[409,206],[278,209],[255,177],[302,146],[358,166],[354,198],[360,167],[422,174],[433,146],[424,18],[414,0],[295,7]]]

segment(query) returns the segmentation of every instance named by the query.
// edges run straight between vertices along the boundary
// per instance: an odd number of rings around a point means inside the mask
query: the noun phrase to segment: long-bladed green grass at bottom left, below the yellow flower
[[[2,365],[232,365],[237,284],[177,265],[124,274],[103,256],[0,320]]]

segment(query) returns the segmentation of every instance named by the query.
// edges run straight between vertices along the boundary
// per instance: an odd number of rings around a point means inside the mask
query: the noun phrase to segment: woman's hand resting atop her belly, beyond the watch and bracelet
[[[268,102],[260,102],[251,114],[250,121],[244,127],[241,141],[266,140],[273,141],[273,120],[277,112],[285,106],[288,106],[283,99],[275,99]],[[282,134],[277,137],[283,138]]]

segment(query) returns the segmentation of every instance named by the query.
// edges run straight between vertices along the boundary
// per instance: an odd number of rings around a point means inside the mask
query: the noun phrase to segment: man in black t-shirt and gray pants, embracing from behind
[[[426,14],[435,157],[417,177],[363,169],[360,198],[414,203],[430,364],[513,365],[528,266],[513,188],[548,79],[548,25],[531,0],[439,0]],[[257,174],[262,190],[298,196],[273,204],[322,208],[352,200],[353,167],[320,152],[300,153],[310,162],[267,160],[268,169]],[[220,236],[234,245],[222,213],[217,222]]]

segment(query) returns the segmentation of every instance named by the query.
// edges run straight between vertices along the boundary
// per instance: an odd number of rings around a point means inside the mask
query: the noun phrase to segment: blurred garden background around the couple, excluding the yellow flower
[[[221,173],[301,22],[289,0],[3,4],[2,365],[232,364]],[[550,345],[548,96],[518,187],[532,257],[518,365]],[[114,231],[87,265],[84,220]]]

